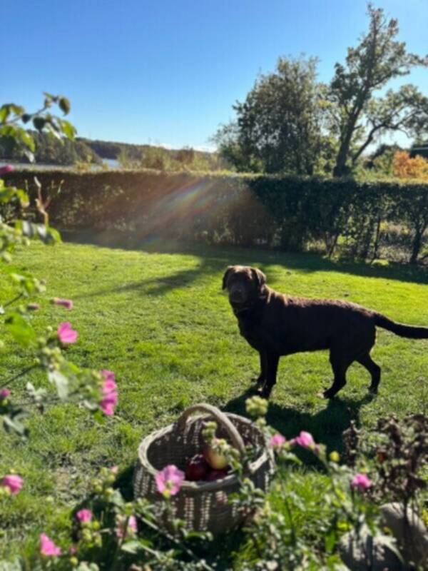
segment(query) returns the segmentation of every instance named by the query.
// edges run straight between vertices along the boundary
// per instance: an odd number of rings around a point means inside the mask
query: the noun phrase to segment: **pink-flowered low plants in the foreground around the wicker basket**
[[[245,477],[245,466],[257,451],[248,447],[241,461],[235,448],[216,437],[215,423],[206,423],[203,430],[207,444],[213,446],[216,441],[238,475],[240,492],[230,495],[228,500],[247,515],[245,548],[240,555],[230,554],[226,568],[241,571],[337,569],[341,564],[337,545],[342,535],[352,531],[357,535],[370,532],[374,537],[384,537],[379,527],[378,504],[373,501],[374,491],[382,487],[383,481],[379,461],[367,460],[367,456],[357,450],[351,465],[340,464],[337,452],[327,456],[325,445],[316,443],[312,435],[304,431],[287,440],[267,425],[267,405],[258,399],[249,399],[247,410],[265,433],[267,445],[275,450],[278,467],[268,492],[255,489]],[[349,434],[347,440],[350,440]],[[384,438],[381,441],[384,445]],[[309,485],[305,482],[307,474],[304,476],[299,469],[300,450],[314,455],[324,473],[310,480]],[[374,458],[373,454],[370,456]],[[425,451],[421,465],[426,459]],[[117,474],[117,466],[102,468],[91,481],[86,500],[71,514],[73,532],[68,540],[56,537],[54,531],[44,531],[31,562],[22,559],[19,566],[10,567],[10,571],[27,568],[213,571],[224,568],[225,562],[219,560],[210,534],[187,530],[184,522],[175,517],[173,496],[180,493],[184,479],[181,470],[174,465],[159,470],[156,485],[161,501],[153,504],[144,498],[127,501],[115,487]],[[5,477],[5,481],[14,480]],[[19,480],[15,482],[19,487]],[[0,501],[14,501],[10,493],[7,495]],[[164,525],[165,520],[168,527]],[[392,538],[387,540],[394,548]],[[9,567],[4,569],[9,571]]]

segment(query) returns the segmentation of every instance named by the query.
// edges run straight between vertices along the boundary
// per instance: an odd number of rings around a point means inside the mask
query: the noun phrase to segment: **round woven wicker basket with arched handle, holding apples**
[[[204,415],[190,415],[195,411]],[[174,464],[185,470],[188,458],[200,453],[203,448],[201,430],[207,420],[218,424],[218,435],[227,438],[245,454],[245,445],[254,445],[260,455],[248,466],[245,473],[261,490],[266,490],[272,475],[273,455],[267,447],[265,437],[247,418],[222,413],[211,405],[199,404],[187,408],[175,424],[148,435],[138,448],[138,464],[134,472],[133,490],[135,497],[146,497],[159,501],[155,476],[158,470]],[[245,444],[244,444],[245,443]],[[171,497],[176,508],[176,517],[185,522],[188,530],[208,530],[217,535],[243,522],[245,515],[228,503],[228,495],[238,491],[239,482],[235,474],[212,482],[190,482],[184,480],[177,495]]]

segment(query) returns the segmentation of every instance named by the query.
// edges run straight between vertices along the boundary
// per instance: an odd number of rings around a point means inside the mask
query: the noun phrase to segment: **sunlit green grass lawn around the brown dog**
[[[0,474],[11,468],[25,487],[1,515],[0,555],[30,550],[39,533],[65,534],[73,505],[86,495],[101,466],[133,465],[143,436],[175,420],[191,403],[205,401],[244,413],[258,354],[240,337],[221,290],[225,266],[258,266],[277,290],[309,297],[345,298],[394,320],[428,325],[428,276],[405,266],[335,264],[317,256],[265,251],[151,245],[135,249],[64,243],[31,246],[14,258],[16,271],[47,279],[39,296],[37,327],[70,320],[79,333],[68,349],[81,366],[116,373],[119,405],[113,418],[97,424],[86,410],[58,405],[34,415],[31,438],[21,443],[1,435]],[[71,298],[71,312],[48,303]],[[0,275],[0,302],[11,297]],[[10,345],[9,345],[10,347]],[[382,415],[428,413],[428,342],[379,330],[372,355],[382,367],[379,395],[370,398],[370,378],[352,365],[339,398],[316,393],[329,385],[327,353],[282,358],[267,420],[291,437],[309,430],[330,450],[341,450],[341,433],[351,419],[370,428]],[[24,350],[0,353],[0,379],[24,368]],[[37,374],[11,387],[46,381]],[[0,380],[1,387],[1,380]],[[314,475],[308,474],[311,481]],[[315,475],[315,481],[317,477]]]

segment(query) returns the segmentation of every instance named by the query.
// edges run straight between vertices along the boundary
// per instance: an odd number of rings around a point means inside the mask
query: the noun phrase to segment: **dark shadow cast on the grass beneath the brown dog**
[[[235,413],[247,416],[245,411],[245,400],[254,396],[254,390],[246,390],[245,393],[229,400],[223,410],[228,413]],[[342,433],[350,427],[353,420],[355,425],[360,425],[360,408],[370,403],[374,395],[368,393],[360,400],[348,400],[347,398],[335,397],[325,401],[325,407],[310,413],[305,410],[277,405],[270,401],[267,408],[267,424],[275,428],[285,438],[294,438],[305,430],[313,435],[318,443],[327,445],[327,450],[337,450],[342,453],[344,450]]]

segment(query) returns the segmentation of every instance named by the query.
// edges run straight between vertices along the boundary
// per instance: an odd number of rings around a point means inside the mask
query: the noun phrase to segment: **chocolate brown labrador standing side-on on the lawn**
[[[332,398],[346,384],[347,368],[357,361],[372,375],[370,391],[377,393],[380,367],[370,357],[376,340],[376,325],[401,337],[427,339],[427,327],[396,323],[356,303],[340,300],[295,298],[272,290],[258,268],[229,266],[223,289],[238,318],[240,334],[260,353],[260,395],[268,398],[276,383],[281,355],[302,351],[330,350],[334,374],[324,391]]]

